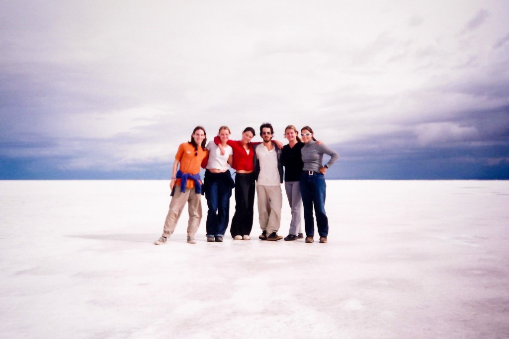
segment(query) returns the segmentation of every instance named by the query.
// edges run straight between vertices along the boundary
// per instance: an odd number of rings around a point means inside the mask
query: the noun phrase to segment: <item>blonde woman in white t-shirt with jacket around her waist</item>
[[[232,164],[233,149],[227,144],[230,138],[230,129],[221,126],[217,134],[224,149],[221,155],[220,148],[209,142],[209,159],[205,170],[202,194],[207,199],[207,241],[223,241],[224,232],[230,220],[230,197],[235,183],[232,179],[229,164]]]

